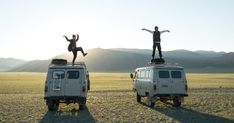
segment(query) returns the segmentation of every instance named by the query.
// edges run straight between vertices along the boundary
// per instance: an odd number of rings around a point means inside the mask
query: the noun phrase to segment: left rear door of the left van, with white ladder
[[[65,71],[64,70],[52,70],[52,78],[49,81],[49,90],[51,96],[63,96],[63,85],[65,82]]]

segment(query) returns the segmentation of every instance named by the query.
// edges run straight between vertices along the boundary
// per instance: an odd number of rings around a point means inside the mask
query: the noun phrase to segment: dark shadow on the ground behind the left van
[[[95,123],[87,107],[84,110],[71,110],[66,112],[47,111],[39,123]]]

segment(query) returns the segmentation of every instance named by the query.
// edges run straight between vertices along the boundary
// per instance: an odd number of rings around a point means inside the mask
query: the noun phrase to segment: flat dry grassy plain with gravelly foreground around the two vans
[[[180,108],[136,102],[129,73],[90,73],[87,106],[61,104],[47,110],[45,73],[0,73],[0,122],[234,122],[234,74],[187,75],[189,96]]]

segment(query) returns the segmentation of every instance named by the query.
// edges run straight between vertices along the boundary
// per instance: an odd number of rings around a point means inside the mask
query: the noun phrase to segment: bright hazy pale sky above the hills
[[[73,33],[90,48],[234,51],[234,0],[1,0],[0,57],[49,59]]]

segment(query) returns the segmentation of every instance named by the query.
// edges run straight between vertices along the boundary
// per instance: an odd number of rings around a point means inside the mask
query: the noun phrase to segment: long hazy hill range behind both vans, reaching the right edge
[[[85,61],[91,72],[131,72],[137,67],[146,66],[151,59],[151,50],[147,49],[101,49],[87,51],[83,57],[78,53],[77,61]],[[157,54],[156,54],[157,55]],[[188,72],[234,72],[234,53],[213,51],[165,51],[167,63],[178,63]],[[72,53],[64,53],[54,58],[72,61]],[[15,67],[10,71],[45,72],[51,60],[35,60]]]

